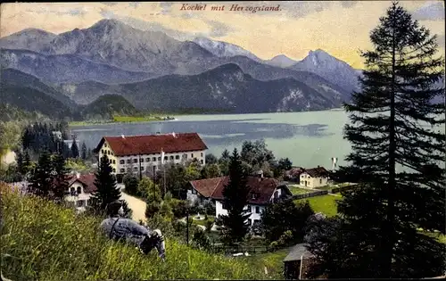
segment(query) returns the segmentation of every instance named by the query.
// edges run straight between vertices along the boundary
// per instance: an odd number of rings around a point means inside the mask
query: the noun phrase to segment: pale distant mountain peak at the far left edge
[[[0,38],[0,47],[42,52],[55,37],[57,37],[56,34],[45,30],[23,29],[10,36]]]

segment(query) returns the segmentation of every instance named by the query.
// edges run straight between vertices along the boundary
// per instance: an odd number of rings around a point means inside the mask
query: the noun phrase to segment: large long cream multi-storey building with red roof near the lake
[[[196,160],[204,165],[207,149],[197,133],[103,136],[96,147],[99,161],[107,154],[119,183],[126,173],[153,175],[166,163]]]

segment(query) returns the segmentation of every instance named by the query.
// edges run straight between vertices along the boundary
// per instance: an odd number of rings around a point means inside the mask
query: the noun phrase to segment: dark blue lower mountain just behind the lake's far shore
[[[138,109],[178,110],[194,108],[221,109],[229,112],[290,112],[322,110],[339,106],[332,95],[321,95],[316,90],[294,79],[260,81],[252,79],[234,63],[198,75],[168,75],[143,82],[107,88],[77,87],[72,93],[92,96],[101,93],[123,95]],[[73,97],[74,98],[74,97]],[[249,106],[247,106],[249,104]]]

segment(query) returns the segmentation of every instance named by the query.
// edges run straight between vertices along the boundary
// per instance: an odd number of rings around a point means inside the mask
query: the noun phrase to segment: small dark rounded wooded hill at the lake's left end
[[[112,119],[113,115],[135,115],[135,106],[120,95],[102,95],[81,110],[85,120]]]

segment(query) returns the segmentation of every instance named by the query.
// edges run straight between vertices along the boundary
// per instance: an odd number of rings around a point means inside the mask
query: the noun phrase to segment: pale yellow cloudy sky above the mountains
[[[196,4],[206,4],[206,8],[185,10]],[[244,7],[244,11],[229,11],[235,4]],[[301,60],[310,50],[322,49],[359,69],[363,66],[359,50],[371,48],[370,30],[391,4],[391,1],[7,3],[1,4],[0,37],[28,28],[59,34],[87,29],[103,19],[116,19],[136,29],[162,31],[179,40],[209,37],[240,45],[265,60],[278,54]],[[443,2],[401,1],[400,4],[439,36],[440,54],[444,55]],[[224,6],[224,11],[212,11],[212,6]],[[249,10],[255,7],[275,7],[278,11]]]

